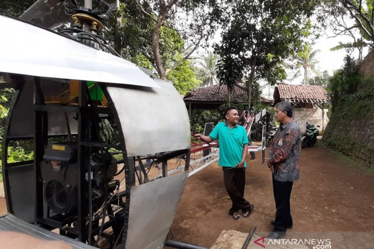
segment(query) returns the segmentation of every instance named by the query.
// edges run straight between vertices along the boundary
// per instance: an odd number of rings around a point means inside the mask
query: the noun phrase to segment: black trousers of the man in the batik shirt
[[[293,181],[277,181],[273,177],[273,192],[275,199],[275,226],[273,231],[285,232],[286,227],[292,226],[289,198],[291,196]]]

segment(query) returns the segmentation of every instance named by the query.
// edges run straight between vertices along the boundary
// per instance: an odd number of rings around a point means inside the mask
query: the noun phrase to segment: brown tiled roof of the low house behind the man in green
[[[227,86],[221,85],[219,87],[219,85],[212,85],[210,87],[198,88],[188,92],[183,99],[186,102],[225,103],[228,100]],[[244,103],[246,101],[247,90],[240,85],[234,85],[231,102]],[[273,103],[273,100],[261,98],[261,102]]]

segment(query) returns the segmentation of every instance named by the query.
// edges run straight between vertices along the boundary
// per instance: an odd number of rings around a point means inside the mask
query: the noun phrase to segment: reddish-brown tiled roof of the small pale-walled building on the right
[[[320,85],[289,85],[278,84],[275,87],[274,99],[276,102],[292,100],[296,102],[328,102],[328,95],[324,87]]]

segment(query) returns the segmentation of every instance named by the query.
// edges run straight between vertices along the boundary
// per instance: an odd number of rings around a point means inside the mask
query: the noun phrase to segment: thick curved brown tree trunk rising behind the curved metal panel
[[[157,17],[156,26],[153,29],[153,35],[152,35],[152,50],[153,50],[153,56],[156,62],[156,70],[159,73],[159,76],[162,80],[166,79],[166,72],[165,68],[163,67],[162,58],[160,55],[160,28],[163,22],[163,19],[166,15],[166,10],[160,6],[160,13]]]

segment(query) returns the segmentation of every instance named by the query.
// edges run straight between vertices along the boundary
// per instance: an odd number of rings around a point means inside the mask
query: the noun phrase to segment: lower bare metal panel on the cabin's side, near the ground
[[[159,249],[177,212],[187,172],[131,189],[126,249]]]

